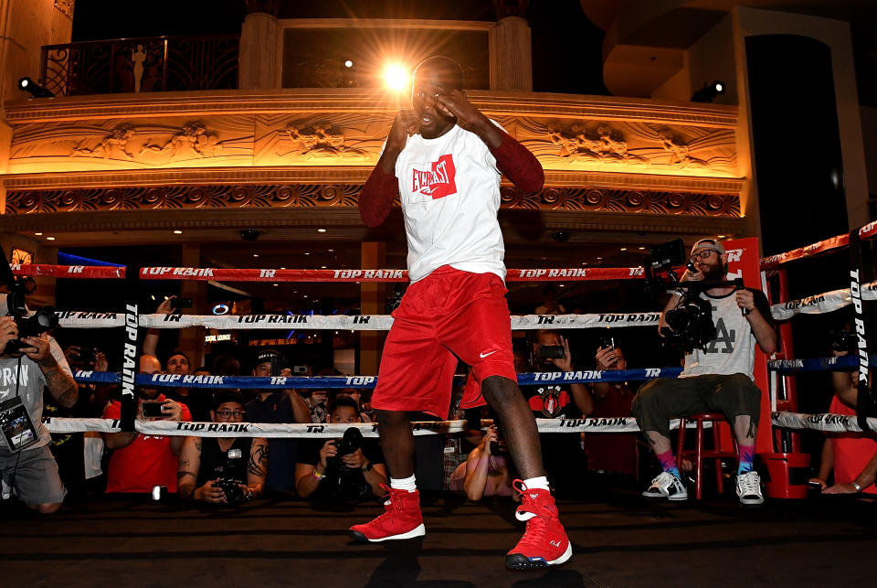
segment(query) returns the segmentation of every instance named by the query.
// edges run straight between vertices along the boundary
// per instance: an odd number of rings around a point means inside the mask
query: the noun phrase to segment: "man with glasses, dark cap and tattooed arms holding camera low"
[[[211,421],[244,422],[245,414],[240,392],[214,394]],[[268,456],[268,442],[262,437],[186,437],[176,472],[179,495],[229,505],[259,497],[268,474]]]

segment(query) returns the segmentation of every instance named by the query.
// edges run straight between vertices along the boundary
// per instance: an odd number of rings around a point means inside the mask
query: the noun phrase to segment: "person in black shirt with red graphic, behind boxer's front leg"
[[[534,371],[573,370],[569,341],[553,330],[539,330],[532,347]],[[521,386],[523,397],[537,419],[581,419],[594,412],[594,399],[584,384]],[[558,495],[578,492],[586,467],[581,433],[540,433],[545,472]]]

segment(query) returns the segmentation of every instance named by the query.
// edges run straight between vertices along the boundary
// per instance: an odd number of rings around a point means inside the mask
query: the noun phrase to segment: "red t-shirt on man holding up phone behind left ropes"
[[[156,401],[164,401],[159,394]],[[185,404],[183,420],[191,421],[192,414]],[[103,410],[103,418],[122,418],[122,403],[112,401]],[[171,451],[170,437],[138,435],[132,444],[112,452],[107,468],[107,492],[152,492],[153,486],[167,486],[176,492],[178,457]]]

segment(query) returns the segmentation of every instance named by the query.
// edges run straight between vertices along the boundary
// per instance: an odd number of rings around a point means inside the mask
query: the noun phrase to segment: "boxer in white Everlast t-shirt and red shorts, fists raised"
[[[515,514],[527,521],[527,530],[507,554],[506,566],[544,568],[568,560],[572,546],[548,488],[533,413],[516,383],[497,219],[502,173],[523,191],[536,192],[544,185],[544,172],[526,147],[469,102],[462,88],[462,69],[452,59],[431,57],[417,66],[412,108],[396,114],[359,198],[360,216],[377,227],[396,193],[401,195],[411,285],[393,312],[372,399],[390,499],[383,515],[355,525],[351,534],[367,541],[425,534],[408,414],[447,417],[460,358],[472,367],[471,378],[496,412],[524,478]],[[477,403],[463,399],[464,406]]]

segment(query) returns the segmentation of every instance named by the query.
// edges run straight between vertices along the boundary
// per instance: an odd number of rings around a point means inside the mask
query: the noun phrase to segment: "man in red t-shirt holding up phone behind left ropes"
[[[162,364],[153,355],[140,358],[140,373],[162,373]],[[137,388],[137,418],[143,417],[143,404],[159,403],[165,416],[148,420],[190,421],[185,404],[172,401],[155,388]],[[103,411],[105,419],[122,418],[122,402],[111,401]],[[143,435],[136,431],[103,433],[107,449],[113,454],[107,467],[107,492],[151,492],[153,486],[167,486],[176,492],[176,466],[185,436]]]

